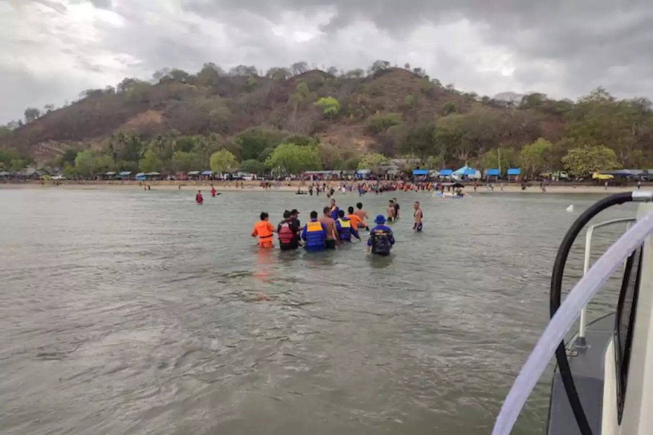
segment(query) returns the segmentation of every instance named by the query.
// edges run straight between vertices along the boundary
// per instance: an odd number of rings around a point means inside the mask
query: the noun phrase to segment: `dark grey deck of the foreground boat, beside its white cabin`
[[[614,334],[615,315],[601,317],[587,325],[587,348],[577,355],[569,355],[569,366],[576,384],[582,407],[592,433],[601,433],[603,413],[603,359],[605,348]],[[572,347],[572,349],[575,349]],[[562,378],[556,368],[551,388],[549,410],[549,435],[581,435],[573,416]]]

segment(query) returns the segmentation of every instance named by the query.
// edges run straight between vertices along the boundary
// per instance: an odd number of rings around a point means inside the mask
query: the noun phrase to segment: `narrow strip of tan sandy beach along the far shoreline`
[[[238,187],[236,187],[236,182],[179,182],[179,181],[152,181],[148,182],[152,190],[210,190],[211,185],[215,186],[217,191],[263,191],[260,182],[250,181],[242,182],[242,187],[240,187],[241,182],[238,182]],[[338,182],[332,182],[332,185],[336,187]],[[181,188],[180,188],[181,185]],[[284,191],[292,192],[296,191],[298,187],[301,187],[302,190],[306,191],[307,185],[305,182],[283,182],[279,187],[272,187],[272,189],[265,189],[268,191]],[[522,190],[518,184],[504,184],[503,189],[499,185],[494,185],[494,190],[486,187],[485,185],[479,185],[477,191],[473,191],[473,187],[468,186],[464,191],[470,195],[494,195],[500,193],[523,193],[523,194],[537,194],[537,195],[546,195],[547,193],[569,193],[569,194],[603,194],[609,195],[611,193],[618,192],[629,192],[636,189],[635,186],[609,186],[607,189],[604,186],[599,185],[583,185],[583,184],[562,184],[562,185],[549,185],[547,186],[547,191],[542,192],[539,189],[538,185],[533,185],[532,187]],[[20,183],[3,183],[0,184],[0,189],[143,189],[144,184],[136,181],[125,181],[125,182],[109,182],[109,181],[84,181],[84,182],[75,182],[75,181],[63,181],[59,185],[54,185],[52,181],[46,181],[44,183],[39,180],[20,182]],[[653,186],[643,185],[643,189],[651,189]]]

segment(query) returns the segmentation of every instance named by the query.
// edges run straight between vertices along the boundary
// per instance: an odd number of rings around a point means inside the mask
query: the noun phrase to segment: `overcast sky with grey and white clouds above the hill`
[[[653,96],[646,0],[0,0],[0,123],[204,62],[426,69],[456,88]]]

